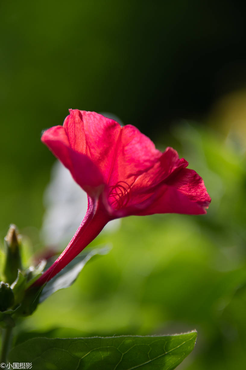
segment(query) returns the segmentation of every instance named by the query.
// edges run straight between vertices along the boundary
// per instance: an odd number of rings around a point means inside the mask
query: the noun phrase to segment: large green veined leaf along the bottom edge
[[[75,339],[35,338],[9,355],[32,362],[35,370],[172,370],[193,350],[197,332],[173,336],[121,336]]]

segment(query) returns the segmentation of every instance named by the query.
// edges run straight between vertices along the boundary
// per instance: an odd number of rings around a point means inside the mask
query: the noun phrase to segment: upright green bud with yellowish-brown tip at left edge
[[[6,281],[12,284],[17,277],[18,269],[21,270],[20,256],[20,235],[18,235],[17,227],[10,225],[8,233],[4,238],[6,244],[6,261],[4,266],[4,275]]]

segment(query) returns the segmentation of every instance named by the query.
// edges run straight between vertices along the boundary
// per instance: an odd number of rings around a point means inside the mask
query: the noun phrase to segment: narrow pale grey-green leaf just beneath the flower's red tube
[[[91,259],[91,257],[94,255],[105,255],[109,251],[110,248],[106,246],[104,248],[89,250],[89,252],[87,250],[86,252],[81,253],[79,256],[74,258],[64,269],[62,269],[44,286],[39,298],[39,303],[43,302],[57,290],[68,288],[70,285],[72,285],[77,279],[84,265]]]

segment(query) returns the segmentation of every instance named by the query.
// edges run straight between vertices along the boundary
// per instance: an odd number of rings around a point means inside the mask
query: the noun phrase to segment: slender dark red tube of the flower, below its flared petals
[[[69,245],[53,265],[46,270],[32,286],[42,286],[52,279],[53,276],[60,272],[60,270],[62,270],[72,261],[72,259],[86,248],[92,240],[96,238],[108,221],[110,221],[110,218],[107,213],[100,209],[98,201],[93,201],[88,197],[88,209],[86,215]]]

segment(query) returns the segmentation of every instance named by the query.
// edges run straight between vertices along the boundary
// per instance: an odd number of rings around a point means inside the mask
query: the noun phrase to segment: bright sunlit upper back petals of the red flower
[[[136,127],[96,112],[70,110],[63,127],[70,147],[86,154],[103,174],[104,183],[133,181],[152,167],[162,153]]]

